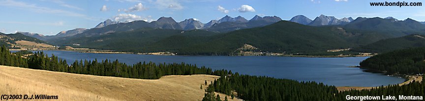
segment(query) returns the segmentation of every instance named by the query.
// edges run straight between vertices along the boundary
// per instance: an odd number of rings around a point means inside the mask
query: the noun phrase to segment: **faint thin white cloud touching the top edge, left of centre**
[[[159,9],[169,8],[172,10],[181,10],[183,9],[182,4],[177,2],[176,0],[156,0],[154,2]]]

